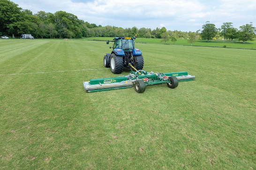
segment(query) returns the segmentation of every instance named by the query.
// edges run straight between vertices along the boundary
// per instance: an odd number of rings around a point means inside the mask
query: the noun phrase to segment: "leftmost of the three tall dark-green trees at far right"
[[[201,32],[201,37],[208,42],[218,33],[218,29],[215,27],[214,24],[211,24],[209,21],[206,21],[202,28],[203,30]]]

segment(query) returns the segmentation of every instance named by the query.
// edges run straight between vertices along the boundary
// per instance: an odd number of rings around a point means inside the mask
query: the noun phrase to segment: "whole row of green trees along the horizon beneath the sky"
[[[115,26],[101,26],[77,18],[65,11],[47,13],[39,11],[33,14],[28,9],[22,9],[10,0],[0,0],[0,35],[31,34],[35,38],[82,38],[82,37],[124,37],[134,36],[143,38],[161,38],[175,43],[177,38],[188,39],[192,44],[196,39],[211,40],[223,38],[229,40],[251,41],[255,38],[256,29],[252,23],[243,25],[240,29],[233,28],[232,22],[223,23],[221,28],[207,21],[202,31],[182,32],[170,31],[165,27],[155,28],[120,28]]]

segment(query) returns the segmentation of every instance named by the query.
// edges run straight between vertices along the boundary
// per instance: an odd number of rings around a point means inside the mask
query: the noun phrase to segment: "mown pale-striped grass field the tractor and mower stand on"
[[[0,40],[0,169],[255,170],[255,50],[136,48],[144,70],[196,80],[86,93],[119,76],[105,42]]]

